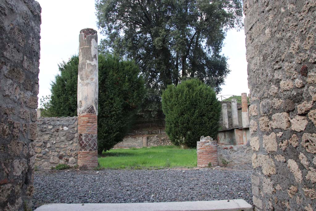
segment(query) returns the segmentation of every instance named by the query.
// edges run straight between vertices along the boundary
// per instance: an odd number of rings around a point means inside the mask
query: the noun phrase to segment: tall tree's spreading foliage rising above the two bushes
[[[241,27],[241,0],[96,0],[100,50],[132,58],[147,87],[199,78],[220,91],[229,72],[226,31]]]

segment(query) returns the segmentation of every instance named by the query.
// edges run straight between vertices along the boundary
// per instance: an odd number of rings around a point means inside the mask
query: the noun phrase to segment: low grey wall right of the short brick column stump
[[[219,145],[217,156],[219,165],[251,163],[250,145]]]

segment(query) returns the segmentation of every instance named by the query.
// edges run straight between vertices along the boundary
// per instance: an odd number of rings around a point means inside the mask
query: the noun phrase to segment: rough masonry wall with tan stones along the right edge
[[[316,210],[316,1],[244,0],[253,203]]]

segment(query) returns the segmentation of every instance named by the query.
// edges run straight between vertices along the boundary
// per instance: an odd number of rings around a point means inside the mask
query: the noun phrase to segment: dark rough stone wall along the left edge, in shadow
[[[32,206],[40,5],[0,0],[0,210]]]

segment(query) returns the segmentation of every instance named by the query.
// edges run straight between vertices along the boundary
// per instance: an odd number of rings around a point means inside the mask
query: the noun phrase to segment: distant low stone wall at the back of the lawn
[[[166,134],[155,136],[148,136],[148,146],[164,146],[172,145],[169,137]],[[130,148],[130,147],[143,147],[143,137],[127,136],[122,142],[116,144],[113,148]]]

